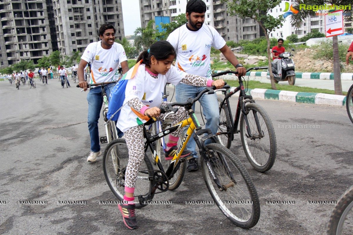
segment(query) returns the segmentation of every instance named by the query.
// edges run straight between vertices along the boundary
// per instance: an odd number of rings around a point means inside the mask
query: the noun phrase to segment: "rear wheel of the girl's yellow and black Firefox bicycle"
[[[123,201],[125,194],[125,174],[123,171],[127,166],[128,156],[127,145],[125,139],[122,138],[110,142],[103,155],[104,176],[107,180],[110,190],[120,201]],[[134,202],[136,208],[145,206],[144,204],[139,203],[138,196],[150,193],[152,190],[152,181],[141,179],[139,177],[152,177],[153,172],[151,170],[153,170],[153,167],[148,157],[145,155],[139,172],[137,173],[135,184]],[[141,173],[140,171],[148,171],[148,175]]]

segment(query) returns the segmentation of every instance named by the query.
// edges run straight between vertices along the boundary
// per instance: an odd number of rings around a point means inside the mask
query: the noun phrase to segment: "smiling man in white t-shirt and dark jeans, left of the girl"
[[[77,68],[78,85],[87,90],[88,84],[84,78],[84,68],[91,63],[90,84],[116,81],[119,79],[118,64],[121,64],[122,73],[125,74],[129,68],[125,50],[121,44],[114,42],[115,28],[111,24],[103,24],[99,29],[101,41],[90,43],[83,55]],[[91,152],[88,162],[95,162],[96,158],[102,155],[99,144],[98,119],[101,113],[103,99],[102,91],[109,97],[115,83],[103,86],[91,87],[87,94],[88,101],[88,130],[91,137]],[[124,134],[118,129],[118,137]]]

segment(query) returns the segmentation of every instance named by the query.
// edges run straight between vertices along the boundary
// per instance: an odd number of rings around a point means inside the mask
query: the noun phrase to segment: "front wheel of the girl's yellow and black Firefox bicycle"
[[[201,158],[202,176],[214,202],[234,224],[241,228],[254,227],[260,218],[260,202],[249,173],[239,159],[221,144],[211,143],[206,148],[209,155],[217,159],[212,163],[214,172],[211,174],[205,159]],[[230,173],[233,180],[229,178]],[[220,181],[222,191],[214,182],[213,175]]]

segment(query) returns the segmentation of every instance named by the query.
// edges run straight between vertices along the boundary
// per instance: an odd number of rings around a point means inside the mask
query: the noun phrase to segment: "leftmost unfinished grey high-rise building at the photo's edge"
[[[46,0],[0,0],[0,68],[52,51]]]

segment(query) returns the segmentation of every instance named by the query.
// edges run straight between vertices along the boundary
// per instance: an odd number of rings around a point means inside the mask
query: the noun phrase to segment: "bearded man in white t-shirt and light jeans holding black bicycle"
[[[173,45],[177,52],[175,67],[188,74],[195,74],[211,78],[210,51],[214,47],[222,52],[231,64],[236,68],[238,76],[243,76],[246,69],[238,62],[237,57],[226,45],[226,41],[213,27],[203,24],[205,21],[206,4],[202,0],[190,0],[186,4],[187,24],[180,26],[170,33],[167,41]],[[204,87],[190,86],[179,83],[175,87],[177,102],[185,102],[189,98],[195,98]],[[219,125],[219,110],[217,95],[205,94],[199,100],[203,107],[203,114],[206,118],[206,128],[211,129],[215,135]],[[195,110],[195,104],[192,108]],[[193,158],[189,160],[188,171],[196,171],[197,152],[196,142],[190,138],[187,143],[187,150],[191,150]]]

